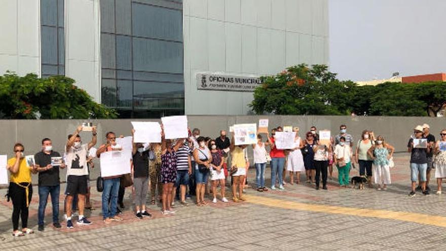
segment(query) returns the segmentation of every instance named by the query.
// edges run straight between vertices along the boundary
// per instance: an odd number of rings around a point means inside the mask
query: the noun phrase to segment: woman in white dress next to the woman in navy
[[[299,137],[299,127],[294,127],[293,131],[296,133],[294,137],[294,146],[289,150],[286,157],[286,169],[289,171],[290,184],[294,184],[294,173],[296,173],[296,184],[299,184],[301,180],[301,172],[305,172],[304,156],[302,155],[301,148],[303,142]]]

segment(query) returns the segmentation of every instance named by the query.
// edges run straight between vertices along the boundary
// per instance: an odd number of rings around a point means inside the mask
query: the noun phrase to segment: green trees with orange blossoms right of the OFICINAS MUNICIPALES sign
[[[256,114],[435,116],[446,103],[446,82],[358,86],[326,65],[300,64],[261,80],[250,104]]]

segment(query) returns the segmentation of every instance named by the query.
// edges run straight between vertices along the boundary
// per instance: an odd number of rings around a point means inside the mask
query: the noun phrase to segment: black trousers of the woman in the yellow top
[[[28,183],[20,183],[22,186],[28,186]],[[14,231],[19,229],[19,218],[22,219],[22,228],[28,227],[28,207],[26,206],[26,189],[15,183],[9,184],[9,196],[12,200],[12,225]],[[28,201],[31,203],[32,186],[28,187]]]

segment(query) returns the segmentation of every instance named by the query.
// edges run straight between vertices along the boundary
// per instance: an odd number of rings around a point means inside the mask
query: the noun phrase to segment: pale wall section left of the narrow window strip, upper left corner
[[[1,1],[0,31],[0,75],[40,75],[40,1]]]

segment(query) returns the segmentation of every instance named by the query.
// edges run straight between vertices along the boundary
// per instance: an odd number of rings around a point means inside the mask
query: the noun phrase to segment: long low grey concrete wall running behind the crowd
[[[201,135],[215,138],[221,129],[229,130],[229,126],[240,123],[257,123],[259,118],[268,118],[270,128],[279,125],[292,125],[301,128],[301,135],[309,130],[312,125],[319,129],[330,129],[332,133],[339,132],[341,124],[347,125],[348,133],[352,134],[355,142],[360,137],[362,130],[371,129],[375,134],[383,135],[386,140],[396,148],[398,152],[407,150],[406,144],[413,128],[416,125],[428,123],[431,133],[436,138],[439,131],[446,128],[446,119],[430,117],[348,117],[348,116],[188,116],[190,128],[200,128]],[[98,127],[99,147],[105,141],[105,133],[114,131],[119,136],[130,135],[131,120],[97,120],[93,121]],[[150,120],[144,120],[150,121]],[[156,121],[156,120],[152,120]],[[0,135],[3,136],[0,145],[0,154],[13,156],[15,142],[22,142],[25,146],[25,154],[35,154],[41,149],[41,140],[50,137],[53,140],[54,150],[63,154],[66,137],[76,130],[76,127],[84,121],[80,120],[0,120]],[[82,132],[82,140],[91,140],[91,133]],[[248,149],[249,158],[252,161],[252,150]],[[99,167],[99,164],[96,164]],[[99,168],[94,169],[92,178],[99,175]],[[65,180],[65,172],[61,178]],[[37,181],[37,178],[34,178]]]

